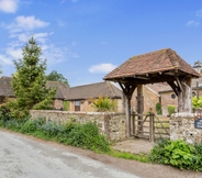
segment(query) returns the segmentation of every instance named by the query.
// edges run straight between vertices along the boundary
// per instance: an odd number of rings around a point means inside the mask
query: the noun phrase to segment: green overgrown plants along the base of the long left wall
[[[111,151],[109,141],[104,135],[99,134],[98,126],[92,122],[79,124],[71,120],[66,124],[59,124],[52,121],[46,122],[44,119],[15,120],[5,108],[1,108],[0,126],[94,152]]]

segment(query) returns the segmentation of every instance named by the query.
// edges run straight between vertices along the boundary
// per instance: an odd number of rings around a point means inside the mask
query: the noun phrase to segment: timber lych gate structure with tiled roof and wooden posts
[[[178,112],[192,112],[191,79],[200,75],[170,48],[130,58],[103,79],[117,82],[125,96],[126,137],[134,133],[131,98],[137,89],[137,112],[143,114],[143,85],[167,82],[178,96]],[[143,119],[143,118],[142,118]],[[141,123],[139,123],[141,126]]]

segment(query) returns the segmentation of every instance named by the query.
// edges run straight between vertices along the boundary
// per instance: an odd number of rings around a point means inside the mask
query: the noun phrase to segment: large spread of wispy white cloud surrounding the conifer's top
[[[44,22],[35,16],[18,16],[13,23],[1,23],[2,27],[9,30],[9,37],[12,42],[1,53],[0,62],[7,65],[13,64],[13,59],[22,58],[22,48],[33,36],[38,46],[42,48],[42,59],[53,65],[67,60],[69,57],[78,57],[76,53],[70,52],[66,46],[58,46],[49,41],[54,32],[34,33],[35,29],[45,27],[49,23]],[[5,60],[7,59],[7,60]]]

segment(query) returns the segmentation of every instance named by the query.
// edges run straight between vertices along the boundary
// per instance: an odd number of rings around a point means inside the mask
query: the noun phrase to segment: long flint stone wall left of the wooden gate
[[[99,126],[100,133],[104,134],[109,141],[122,141],[125,138],[125,114],[115,112],[69,112],[69,111],[47,111],[31,110],[32,119],[45,118],[46,121],[66,123],[74,120],[79,123],[94,122]]]

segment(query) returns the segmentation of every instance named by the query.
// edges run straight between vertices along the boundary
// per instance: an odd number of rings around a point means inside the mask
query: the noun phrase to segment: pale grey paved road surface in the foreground
[[[0,131],[0,178],[138,178],[112,165]]]

